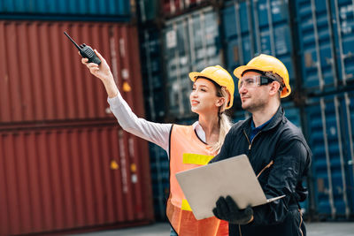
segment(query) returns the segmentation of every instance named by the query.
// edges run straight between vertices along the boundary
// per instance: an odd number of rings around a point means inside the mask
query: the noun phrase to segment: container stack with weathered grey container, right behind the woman
[[[214,1],[212,1],[214,2]],[[219,15],[204,0],[139,1],[142,83],[147,118],[192,124],[188,73],[221,65]],[[150,145],[155,217],[165,220],[169,161],[164,149]]]

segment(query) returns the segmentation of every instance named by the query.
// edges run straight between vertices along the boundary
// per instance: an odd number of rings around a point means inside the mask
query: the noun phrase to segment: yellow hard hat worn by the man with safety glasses
[[[283,80],[285,87],[281,91],[281,98],[286,97],[291,93],[289,85],[289,73],[287,67],[280,60],[275,57],[261,54],[258,57],[254,57],[247,65],[239,66],[235,69],[234,74],[238,79],[242,78],[242,74],[248,70],[257,70],[261,72],[272,72],[279,76]],[[240,83],[240,80],[239,80]]]

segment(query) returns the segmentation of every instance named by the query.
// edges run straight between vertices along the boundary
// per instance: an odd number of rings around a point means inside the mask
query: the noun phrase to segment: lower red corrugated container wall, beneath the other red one
[[[0,235],[152,221],[147,153],[115,125],[1,131]]]

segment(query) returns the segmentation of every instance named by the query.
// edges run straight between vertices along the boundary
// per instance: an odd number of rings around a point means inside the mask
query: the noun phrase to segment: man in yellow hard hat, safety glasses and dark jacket
[[[234,73],[239,79],[242,109],[252,116],[230,129],[219,155],[211,163],[246,154],[266,197],[285,197],[238,209],[231,197],[220,196],[213,213],[228,221],[229,235],[304,236],[298,202],[307,196],[302,182],[312,154],[303,133],[285,118],[281,108],[281,98],[291,92],[287,68],[277,58],[262,54]]]

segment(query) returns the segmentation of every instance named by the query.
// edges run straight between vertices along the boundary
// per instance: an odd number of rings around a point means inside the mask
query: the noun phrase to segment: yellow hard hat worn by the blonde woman
[[[221,87],[227,88],[227,92],[230,94],[230,101],[227,103],[226,109],[232,107],[234,103],[234,92],[235,92],[235,83],[229,72],[222,68],[220,65],[214,65],[206,67],[201,72],[190,72],[189,78],[193,82],[196,81],[198,76],[206,77],[215,83],[219,84]]]

